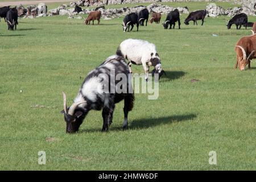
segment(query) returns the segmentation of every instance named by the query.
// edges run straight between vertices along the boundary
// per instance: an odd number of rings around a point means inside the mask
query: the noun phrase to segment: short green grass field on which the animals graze
[[[122,18],[100,26],[67,16],[20,19],[16,31],[2,20],[0,169],[255,170],[256,62],[251,70],[233,69],[234,45],[251,32],[227,30],[226,19],[207,18],[203,27],[182,23],[181,30],[149,24],[126,33]],[[61,91],[71,104],[80,76],[127,38],[158,48],[167,72],[158,100],[136,94],[127,131],[121,130],[121,102],[108,133],[100,132],[101,112],[90,111],[79,133],[66,134]],[[133,72],[143,69],[133,66]],[[38,151],[46,152],[46,165],[38,164]],[[217,152],[217,165],[209,165],[209,151]]]

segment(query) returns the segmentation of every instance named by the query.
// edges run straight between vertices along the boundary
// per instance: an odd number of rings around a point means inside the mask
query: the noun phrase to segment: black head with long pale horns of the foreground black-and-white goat
[[[75,133],[79,130],[82,121],[87,114],[87,111],[82,108],[77,108],[80,104],[85,104],[86,101],[74,102],[70,107],[67,107],[66,94],[63,92],[64,110],[61,113],[64,114],[64,120],[67,123],[66,133]]]

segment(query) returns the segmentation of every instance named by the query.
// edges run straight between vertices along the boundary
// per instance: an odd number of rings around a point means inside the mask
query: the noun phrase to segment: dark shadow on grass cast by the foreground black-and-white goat
[[[185,115],[172,115],[168,117],[160,117],[160,118],[143,118],[143,119],[135,119],[131,121],[130,125],[128,125],[127,130],[138,130],[138,129],[147,129],[149,127],[154,127],[162,124],[168,124],[172,122],[181,122],[181,121],[188,121],[193,120],[196,118],[196,114],[185,114]],[[109,131],[120,131],[122,129],[122,125],[119,126],[111,126],[109,127]],[[79,133],[93,133],[93,132],[100,132],[100,128],[94,129],[82,129]]]

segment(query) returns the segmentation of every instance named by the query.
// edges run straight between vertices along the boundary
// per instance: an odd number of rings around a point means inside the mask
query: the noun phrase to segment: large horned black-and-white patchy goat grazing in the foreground
[[[122,85],[122,92],[116,90],[118,83],[123,82],[123,77],[121,81],[119,81],[120,79],[115,79],[115,76],[118,76],[119,73],[126,77],[127,80],[129,79],[129,68],[126,61],[121,56],[110,56],[86,76],[79,93],[70,107],[67,107],[66,95],[63,92],[64,110],[61,113],[64,113],[64,120],[67,122],[67,133],[78,131],[90,110],[101,109],[103,109],[101,131],[108,131],[109,125],[112,123],[115,104],[122,100],[125,100],[123,129],[127,128],[127,115],[133,109],[134,93],[129,81]]]

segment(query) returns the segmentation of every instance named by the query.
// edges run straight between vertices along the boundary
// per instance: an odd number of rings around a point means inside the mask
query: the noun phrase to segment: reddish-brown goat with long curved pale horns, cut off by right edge
[[[251,68],[250,61],[251,59],[256,58],[256,34],[250,36],[244,36],[238,40],[235,51],[237,53],[237,63],[234,68],[237,68],[241,71],[245,70],[245,66],[248,64],[248,68]],[[249,55],[249,56],[247,56]]]

